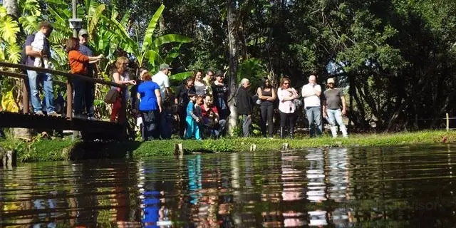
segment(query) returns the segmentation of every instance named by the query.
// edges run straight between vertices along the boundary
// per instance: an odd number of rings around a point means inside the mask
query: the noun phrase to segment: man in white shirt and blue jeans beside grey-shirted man
[[[309,76],[309,84],[302,87],[304,108],[306,109],[307,120],[309,120],[309,133],[311,138],[323,135],[321,128],[321,86],[316,83],[315,76]]]

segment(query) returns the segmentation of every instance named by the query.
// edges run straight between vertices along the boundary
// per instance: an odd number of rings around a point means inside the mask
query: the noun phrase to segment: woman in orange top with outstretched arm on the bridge
[[[79,40],[71,37],[66,41],[66,52],[68,52],[68,62],[70,63],[71,73],[81,76],[88,76],[88,68],[85,63],[95,63],[103,58],[100,56],[84,56],[79,51]],[[86,90],[86,81],[80,78],[72,78],[74,97],[73,97],[73,116],[75,118],[87,118],[83,115],[86,108],[86,113],[92,108],[93,100],[91,99],[90,90]],[[83,100],[86,100],[86,107],[83,107]],[[91,101],[91,102],[90,102]]]

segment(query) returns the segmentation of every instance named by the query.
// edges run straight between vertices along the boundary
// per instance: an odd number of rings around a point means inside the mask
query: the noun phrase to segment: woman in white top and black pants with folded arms
[[[286,121],[289,122],[289,135],[293,139],[294,124],[296,123],[296,106],[293,100],[299,98],[298,92],[290,86],[290,78],[282,78],[280,87],[277,89],[277,97],[279,98],[280,112],[280,138],[284,138],[284,128]]]

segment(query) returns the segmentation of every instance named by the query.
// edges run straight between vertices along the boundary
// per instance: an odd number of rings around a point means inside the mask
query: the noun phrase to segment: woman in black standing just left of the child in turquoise
[[[188,77],[184,80],[182,85],[176,90],[175,104],[177,105],[179,115],[179,136],[184,138],[185,133],[185,118],[187,118],[187,105],[190,102],[188,93],[195,93],[194,81],[192,77]]]

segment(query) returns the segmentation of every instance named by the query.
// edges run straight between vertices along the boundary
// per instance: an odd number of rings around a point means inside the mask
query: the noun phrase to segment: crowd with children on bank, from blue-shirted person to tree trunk
[[[169,65],[160,65],[154,76],[145,68],[140,69],[140,78],[130,90],[132,105],[138,110],[138,125],[143,140],[170,138],[170,123],[167,115],[176,113],[179,122],[180,138],[202,140],[207,137],[219,137],[224,134],[228,105],[227,86],[223,83],[223,74],[208,71],[202,78],[202,71],[186,78],[172,99]],[[215,81],[212,81],[212,78]],[[215,102],[214,102],[215,101]],[[224,116],[224,118],[222,118]]]

